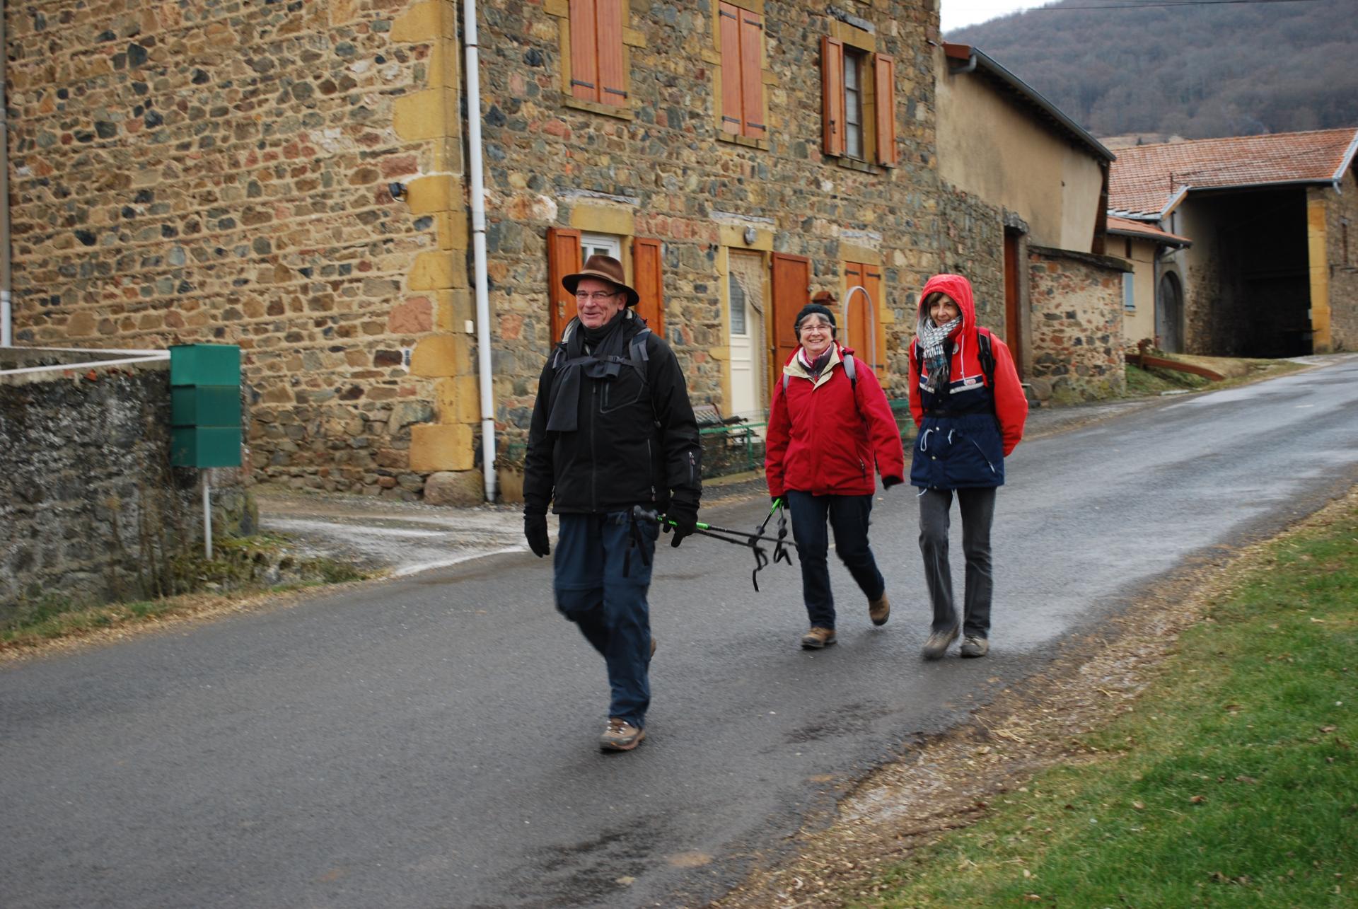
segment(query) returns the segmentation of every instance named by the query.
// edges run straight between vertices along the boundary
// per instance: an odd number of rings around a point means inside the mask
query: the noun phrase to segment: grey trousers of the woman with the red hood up
[[[961,552],[967,557],[967,587],[963,594],[961,633],[990,636],[990,522],[995,516],[995,488],[957,489],[961,511]],[[925,557],[925,583],[934,617],[930,630],[948,632],[957,626],[952,599],[952,567],[948,564],[948,520],[952,489],[925,489],[919,496],[919,552]]]

